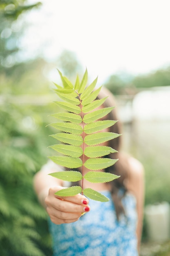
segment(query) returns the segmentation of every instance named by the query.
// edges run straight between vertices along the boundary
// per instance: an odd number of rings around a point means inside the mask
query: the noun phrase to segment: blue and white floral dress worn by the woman
[[[53,238],[53,256],[137,256],[137,212],[135,197],[122,199],[126,216],[116,219],[109,191],[102,191],[110,201],[89,200],[91,211],[77,222],[55,225],[49,220]]]

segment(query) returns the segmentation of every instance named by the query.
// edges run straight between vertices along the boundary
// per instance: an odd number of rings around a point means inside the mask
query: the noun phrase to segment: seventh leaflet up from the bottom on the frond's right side
[[[108,113],[110,113],[113,110],[113,108],[114,107],[102,108],[99,110],[95,110],[91,113],[88,113],[88,114],[84,115],[83,121],[86,124],[92,123],[92,122],[96,121],[97,119],[106,116]]]

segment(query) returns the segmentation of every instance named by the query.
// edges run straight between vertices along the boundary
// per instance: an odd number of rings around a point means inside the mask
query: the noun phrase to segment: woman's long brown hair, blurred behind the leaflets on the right
[[[116,100],[113,94],[106,88],[102,88],[99,92],[97,99],[102,99],[108,96],[106,101],[103,103],[104,107],[115,106],[115,108],[106,116],[108,120],[118,120],[117,111],[116,111]],[[120,121],[117,121],[113,126],[110,127],[110,132],[115,132],[121,134],[122,125]],[[121,199],[127,192],[126,180],[128,179],[129,173],[129,164],[128,164],[128,156],[121,152],[121,140],[122,136],[119,136],[115,139],[108,141],[108,146],[114,148],[118,151],[118,153],[111,153],[108,157],[113,159],[119,159],[113,166],[110,166],[105,169],[105,172],[114,173],[116,175],[120,175],[116,180],[110,182],[111,184],[111,194],[113,198],[113,202],[115,204],[115,211],[117,220],[119,220],[119,216],[121,213],[124,213],[124,207],[121,203]],[[121,193],[119,193],[121,191]]]

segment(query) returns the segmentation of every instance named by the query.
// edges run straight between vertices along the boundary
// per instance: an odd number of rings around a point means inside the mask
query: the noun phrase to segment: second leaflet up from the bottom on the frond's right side
[[[117,176],[113,173],[104,173],[104,172],[97,172],[97,171],[90,171],[84,175],[84,179],[88,180],[92,183],[105,183],[110,182],[111,180],[115,180],[119,178],[120,176]]]

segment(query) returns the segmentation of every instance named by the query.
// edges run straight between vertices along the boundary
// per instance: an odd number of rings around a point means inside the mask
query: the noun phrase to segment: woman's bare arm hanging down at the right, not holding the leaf
[[[128,179],[128,190],[135,195],[137,200],[137,239],[138,249],[141,243],[141,234],[143,227],[143,209],[144,209],[144,168],[135,158],[130,157],[130,173]]]

